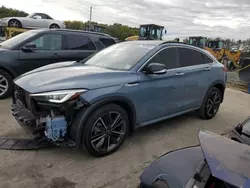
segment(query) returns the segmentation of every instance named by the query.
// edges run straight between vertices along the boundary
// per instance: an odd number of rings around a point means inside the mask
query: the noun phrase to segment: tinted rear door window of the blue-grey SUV
[[[178,48],[178,52],[180,67],[200,65],[205,63],[202,53],[196,50],[189,48]]]

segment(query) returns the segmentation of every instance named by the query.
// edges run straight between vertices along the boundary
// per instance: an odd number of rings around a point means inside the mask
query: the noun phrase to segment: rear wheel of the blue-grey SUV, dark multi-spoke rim
[[[215,97],[216,96],[216,97]],[[198,110],[198,114],[202,119],[212,119],[218,112],[222,100],[221,91],[213,87],[205,96],[201,108]],[[212,105],[212,109],[211,109]]]

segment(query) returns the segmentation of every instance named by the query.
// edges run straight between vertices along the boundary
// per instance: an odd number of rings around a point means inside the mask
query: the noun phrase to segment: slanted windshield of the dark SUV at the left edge
[[[6,49],[11,49],[13,48],[14,46],[18,45],[20,42],[23,42],[24,40],[34,36],[37,34],[37,31],[26,31],[24,33],[21,33],[19,35],[16,35],[15,37],[12,37],[2,43],[0,43],[0,46],[2,48],[6,48]]]

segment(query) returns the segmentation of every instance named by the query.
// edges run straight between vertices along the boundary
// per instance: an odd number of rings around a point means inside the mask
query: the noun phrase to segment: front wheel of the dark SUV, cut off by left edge
[[[5,88],[6,86],[7,88]],[[0,100],[10,96],[12,91],[12,77],[0,69]]]

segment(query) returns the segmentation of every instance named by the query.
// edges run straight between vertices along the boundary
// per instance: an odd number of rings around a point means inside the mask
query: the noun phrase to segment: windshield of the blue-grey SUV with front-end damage
[[[95,54],[85,65],[115,70],[130,70],[155,46],[139,43],[118,43]],[[85,61],[84,61],[85,62]]]

